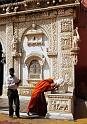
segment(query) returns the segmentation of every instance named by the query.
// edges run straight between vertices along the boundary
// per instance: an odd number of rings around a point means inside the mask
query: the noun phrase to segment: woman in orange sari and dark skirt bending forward
[[[28,115],[44,116],[47,113],[47,103],[44,92],[51,91],[55,88],[52,79],[39,81],[33,89],[30,102],[28,104]]]

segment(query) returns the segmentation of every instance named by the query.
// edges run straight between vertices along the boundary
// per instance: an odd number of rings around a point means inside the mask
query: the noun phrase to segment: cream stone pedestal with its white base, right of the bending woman
[[[48,94],[47,118],[73,120],[73,94]]]

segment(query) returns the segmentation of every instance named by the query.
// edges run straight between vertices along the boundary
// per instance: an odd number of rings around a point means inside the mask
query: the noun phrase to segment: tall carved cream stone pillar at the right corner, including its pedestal
[[[60,9],[61,10],[61,9]],[[65,11],[64,9],[61,10]],[[70,11],[70,9],[68,10]],[[55,119],[73,119],[73,90],[74,90],[74,65],[77,62],[78,45],[76,36],[73,40],[73,15],[58,17],[58,55],[56,70],[58,69],[59,77],[64,78],[64,86],[60,86],[57,92],[47,94],[48,96],[48,118]],[[61,15],[62,16],[62,15]],[[74,45],[75,46],[74,46]],[[72,47],[74,46],[74,48]],[[53,46],[52,46],[53,47]],[[52,48],[53,49],[53,48]],[[53,53],[53,52],[52,52]],[[52,59],[52,55],[48,55]],[[55,60],[55,59],[54,59]],[[53,62],[54,63],[54,62]],[[52,65],[53,66],[53,65]],[[54,66],[53,66],[54,67]],[[53,72],[55,74],[55,72]],[[51,106],[51,107],[50,107]]]

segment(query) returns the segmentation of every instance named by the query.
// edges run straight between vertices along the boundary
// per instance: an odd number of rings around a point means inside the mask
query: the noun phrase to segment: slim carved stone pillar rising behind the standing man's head
[[[13,40],[12,40],[12,56],[13,56],[13,67],[15,69],[16,75],[20,78],[20,45],[19,45],[19,37],[18,37],[18,23],[14,23],[13,29]]]

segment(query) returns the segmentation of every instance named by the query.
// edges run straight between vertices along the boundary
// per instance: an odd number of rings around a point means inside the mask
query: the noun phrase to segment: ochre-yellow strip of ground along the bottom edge
[[[27,116],[21,116],[17,119],[9,118],[6,114],[0,114],[0,124],[87,124],[87,118],[75,121],[56,120],[56,119],[30,119]]]

